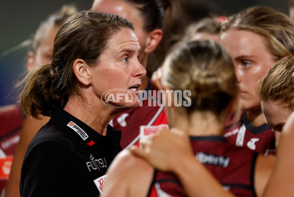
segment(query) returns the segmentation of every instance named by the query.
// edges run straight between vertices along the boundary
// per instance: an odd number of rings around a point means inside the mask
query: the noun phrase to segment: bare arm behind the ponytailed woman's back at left
[[[21,169],[27,146],[35,134],[40,130],[40,128],[48,121],[49,117],[44,116],[42,120],[37,120],[33,117],[25,118],[20,141],[16,146],[16,150],[13,156],[10,176],[5,188],[5,197],[20,197]]]

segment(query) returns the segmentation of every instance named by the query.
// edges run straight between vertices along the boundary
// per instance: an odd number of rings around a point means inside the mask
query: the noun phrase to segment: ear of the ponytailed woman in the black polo
[[[73,61],[73,73],[80,83],[84,85],[91,84],[89,65],[83,59],[75,59]]]

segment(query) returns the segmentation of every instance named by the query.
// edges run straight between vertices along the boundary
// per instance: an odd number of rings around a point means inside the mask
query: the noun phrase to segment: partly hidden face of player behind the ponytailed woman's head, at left
[[[40,45],[35,53],[29,52],[27,59],[27,70],[30,70],[34,65],[42,63],[51,63],[54,38],[60,27],[48,27],[43,34]]]

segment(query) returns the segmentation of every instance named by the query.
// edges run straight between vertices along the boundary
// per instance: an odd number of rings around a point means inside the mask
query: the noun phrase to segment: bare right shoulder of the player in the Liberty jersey
[[[262,197],[274,169],[276,157],[258,155],[254,170],[254,189],[257,197]]]

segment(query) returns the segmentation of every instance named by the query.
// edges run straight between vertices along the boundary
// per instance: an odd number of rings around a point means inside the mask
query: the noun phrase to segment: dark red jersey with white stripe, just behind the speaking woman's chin
[[[137,108],[118,114],[112,120],[112,126],[122,130],[121,147],[139,145],[140,126],[155,126],[168,124],[164,107],[158,105],[161,99],[157,97],[157,88],[150,81],[146,88],[147,95],[140,94],[140,105]],[[142,99],[142,97],[146,99]]]

